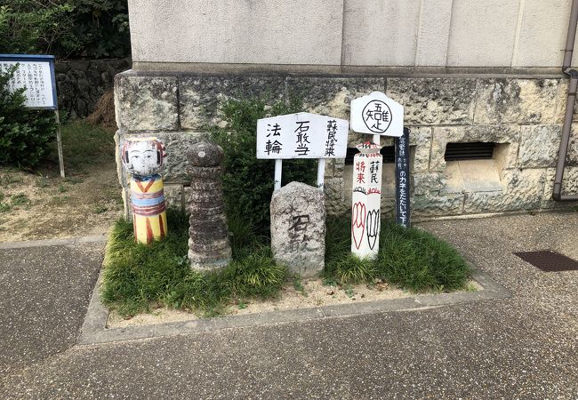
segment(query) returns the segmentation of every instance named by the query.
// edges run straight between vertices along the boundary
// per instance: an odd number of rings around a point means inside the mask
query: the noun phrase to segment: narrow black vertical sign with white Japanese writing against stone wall
[[[404,228],[409,217],[409,129],[396,139],[396,223]]]

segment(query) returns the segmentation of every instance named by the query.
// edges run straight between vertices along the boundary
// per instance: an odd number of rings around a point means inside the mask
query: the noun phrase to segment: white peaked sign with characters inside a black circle
[[[399,137],[404,132],[404,106],[382,92],[351,101],[351,130]]]

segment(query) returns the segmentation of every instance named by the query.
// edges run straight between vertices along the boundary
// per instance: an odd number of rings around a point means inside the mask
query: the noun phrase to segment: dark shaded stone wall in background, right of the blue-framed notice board
[[[115,75],[131,67],[130,59],[65,60],[54,66],[60,112],[84,118],[113,86]]]

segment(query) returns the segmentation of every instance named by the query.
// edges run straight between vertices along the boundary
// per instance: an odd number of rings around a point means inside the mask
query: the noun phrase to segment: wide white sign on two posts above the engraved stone
[[[310,113],[257,121],[257,158],[345,158],[349,122]]]

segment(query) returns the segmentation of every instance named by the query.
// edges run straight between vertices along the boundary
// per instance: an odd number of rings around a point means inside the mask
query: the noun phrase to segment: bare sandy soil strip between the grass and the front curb
[[[470,281],[468,291],[481,291],[484,288],[476,281]],[[275,300],[246,300],[230,305],[227,315],[256,314],[267,311],[286,309],[316,308],[337,304],[352,304],[375,300],[402,299],[416,296],[412,292],[397,289],[385,282],[375,284],[356,284],[345,287],[324,285],[321,279],[311,279],[302,282],[302,290],[296,290],[293,285],[284,287]],[[419,296],[419,295],[418,295]],[[201,318],[185,311],[171,308],[157,308],[149,314],[139,314],[132,318],[124,318],[116,312],[108,314],[108,328],[123,328],[149,324],[165,324],[170,322],[191,321]]]

